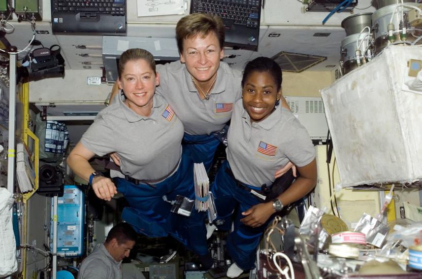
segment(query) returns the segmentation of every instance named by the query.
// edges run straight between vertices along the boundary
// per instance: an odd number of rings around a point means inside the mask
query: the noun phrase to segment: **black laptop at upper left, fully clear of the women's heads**
[[[126,0],[51,0],[54,33],[126,33]]]

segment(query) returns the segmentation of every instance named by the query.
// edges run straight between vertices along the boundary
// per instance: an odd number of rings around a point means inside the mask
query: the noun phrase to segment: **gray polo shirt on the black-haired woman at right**
[[[251,186],[271,185],[289,160],[305,166],[315,158],[308,131],[279,106],[260,122],[250,122],[242,100],[235,104],[228,134],[227,159],[236,179]]]

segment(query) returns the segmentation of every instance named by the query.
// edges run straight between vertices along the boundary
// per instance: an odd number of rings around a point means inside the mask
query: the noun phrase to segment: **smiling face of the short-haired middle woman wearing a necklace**
[[[207,83],[217,75],[223,55],[217,36],[209,32],[204,38],[199,34],[184,39],[180,61],[186,64],[187,71],[197,82]]]

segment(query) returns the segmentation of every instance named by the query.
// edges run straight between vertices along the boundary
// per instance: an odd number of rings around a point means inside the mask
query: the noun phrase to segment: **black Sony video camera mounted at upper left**
[[[64,75],[64,58],[58,45],[35,49],[25,56],[22,66],[16,69],[17,83],[26,78],[45,78],[46,75]]]

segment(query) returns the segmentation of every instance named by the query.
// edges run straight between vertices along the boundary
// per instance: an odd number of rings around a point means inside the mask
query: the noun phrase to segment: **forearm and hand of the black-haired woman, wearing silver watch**
[[[297,169],[299,171],[300,177],[296,179],[296,181],[291,184],[286,191],[278,196],[278,199],[284,205],[290,204],[302,198],[308,194],[316,185],[317,177],[315,159],[303,167],[297,167]],[[240,221],[250,227],[259,227],[265,224],[265,222],[267,222],[267,220],[275,212],[276,211],[273,208],[273,201],[259,203],[243,212],[242,215],[246,217],[240,219]]]

